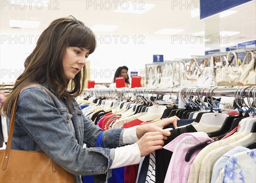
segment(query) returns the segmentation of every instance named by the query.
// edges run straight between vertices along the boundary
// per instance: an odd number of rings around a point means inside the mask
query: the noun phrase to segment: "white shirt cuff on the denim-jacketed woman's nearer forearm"
[[[140,163],[140,148],[137,143],[115,148],[114,150],[113,163],[109,169]]]

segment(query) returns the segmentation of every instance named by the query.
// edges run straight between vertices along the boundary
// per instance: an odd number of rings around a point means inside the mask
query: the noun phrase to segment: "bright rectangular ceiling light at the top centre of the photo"
[[[143,14],[148,10],[154,8],[154,6],[156,6],[155,4],[144,3],[143,1],[139,1],[139,3],[134,3],[134,2],[128,3],[127,1],[122,1],[120,6],[117,7],[114,10],[114,12]]]

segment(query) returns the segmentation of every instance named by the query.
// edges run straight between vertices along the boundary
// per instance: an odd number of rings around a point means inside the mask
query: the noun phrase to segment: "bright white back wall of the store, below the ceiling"
[[[3,36],[4,35],[4,36]],[[12,82],[23,72],[23,63],[35,47],[40,34],[2,34],[0,54],[0,82]],[[122,37],[122,38],[121,38]],[[97,35],[97,48],[89,56],[91,80],[112,82],[115,70],[127,66],[129,72],[137,71],[143,76],[145,64],[153,62],[153,55],[164,55],[164,60],[190,58],[203,55],[204,44],[190,41],[174,41],[166,35]]]

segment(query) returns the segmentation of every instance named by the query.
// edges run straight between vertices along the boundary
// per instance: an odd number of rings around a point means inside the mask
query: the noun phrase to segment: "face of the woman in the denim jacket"
[[[66,79],[73,79],[80,72],[85,65],[86,58],[89,56],[89,51],[89,49],[80,47],[67,47],[62,59]]]

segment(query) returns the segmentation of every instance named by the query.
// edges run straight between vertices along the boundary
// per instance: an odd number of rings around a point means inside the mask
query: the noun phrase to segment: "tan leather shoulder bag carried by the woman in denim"
[[[45,91],[48,93],[46,89]],[[49,93],[48,95],[50,96]],[[18,96],[12,107],[7,146],[6,149],[0,150],[0,182],[74,183],[74,175],[54,163],[43,151],[20,151],[11,149],[17,99]]]

